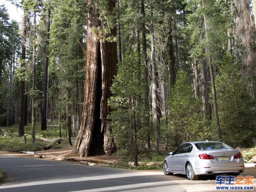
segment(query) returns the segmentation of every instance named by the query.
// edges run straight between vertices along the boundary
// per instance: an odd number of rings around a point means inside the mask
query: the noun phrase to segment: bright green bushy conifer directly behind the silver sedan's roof
[[[188,74],[181,70],[171,89],[169,129],[176,145],[185,141],[214,138],[208,121],[201,115],[202,100],[193,97],[190,82]]]

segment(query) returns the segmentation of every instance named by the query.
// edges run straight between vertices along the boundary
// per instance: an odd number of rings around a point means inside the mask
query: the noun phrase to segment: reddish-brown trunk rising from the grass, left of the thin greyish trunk
[[[26,63],[26,35],[27,35],[27,18],[28,13],[24,11],[22,21],[22,49],[21,49],[21,68],[22,75],[20,81],[20,110],[19,110],[19,131],[18,136],[24,135],[24,93],[25,93],[25,63]]]

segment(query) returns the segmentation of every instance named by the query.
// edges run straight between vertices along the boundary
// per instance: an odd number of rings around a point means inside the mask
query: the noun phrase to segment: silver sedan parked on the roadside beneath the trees
[[[193,141],[180,145],[164,159],[165,175],[180,173],[189,180],[199,175],[228,173],[239,175],[244,172],[242,154],[228,145],[217,141]]]

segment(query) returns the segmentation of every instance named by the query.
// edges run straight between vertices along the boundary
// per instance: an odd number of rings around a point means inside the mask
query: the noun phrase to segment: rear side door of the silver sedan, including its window
[[[190,143],[185,143],[180,155],[178,157],[178,170],[180,172],[185,172],[185,166],[190,157],[190,152],[192,151],[193,146]]]

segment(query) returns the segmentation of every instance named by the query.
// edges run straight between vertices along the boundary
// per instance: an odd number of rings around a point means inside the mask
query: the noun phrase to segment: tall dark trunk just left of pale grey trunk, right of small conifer
[[[143,68],[143,79],[144,83],[146,85],[145,89],[145,111],[149,113],[149,102],[148,102],[148,95],[149,95],[149,89],[148,89],[148,56],[147,56],[147,41],[146,41],[146,27],[145,27],[145,10],[144,10],[144,0],[140,1],[140,12],[142,15],[142,51],[143,51],[143,62],[144,62],[144,68]],[[145,146],[146,148],[150,148],[150,133],[149,133],[149,114],[145,116],[144,124],[146,127],[148,127],[146,138],[145,138]]]

